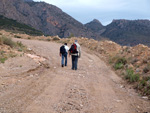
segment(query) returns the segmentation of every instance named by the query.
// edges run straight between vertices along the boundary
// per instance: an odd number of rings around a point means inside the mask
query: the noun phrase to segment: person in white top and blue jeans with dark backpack
[[[67,46],[67,43],[62,45],[60,47],[60,53],[59,55],[62,57],[61,59],[61,66],[64,67],[64,59],[65,59],[65,66],[67,66],[67,55],[68,55],[69,47]]]

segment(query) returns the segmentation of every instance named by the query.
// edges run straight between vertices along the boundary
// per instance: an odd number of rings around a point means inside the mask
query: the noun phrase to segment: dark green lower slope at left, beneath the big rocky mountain
[[[29,35],[43,35],[31,26],[16,22],[16,20],[8,19],[0,15],[0,29],[5,29],[13,32],[25,33]]]

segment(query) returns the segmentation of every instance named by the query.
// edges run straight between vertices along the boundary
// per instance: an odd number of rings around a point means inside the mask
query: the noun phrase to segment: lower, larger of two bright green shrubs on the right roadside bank
[[[129,82],[137,82],[140,79],[140,75],[135,74],[132,69],[127,69],[125,78],[128,79]]]

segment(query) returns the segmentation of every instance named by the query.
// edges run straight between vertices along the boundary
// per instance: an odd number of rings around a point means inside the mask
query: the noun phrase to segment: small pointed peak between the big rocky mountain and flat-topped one
[[[105,27],[101,24],[101,22],[97,19],[85,24],[85,27],[92,30],[94,33],[101,34],[105,31]]]

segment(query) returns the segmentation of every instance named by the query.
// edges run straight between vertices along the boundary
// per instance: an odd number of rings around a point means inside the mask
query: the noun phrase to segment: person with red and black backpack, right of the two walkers
[[[71,45],[69,54],[72,57],[72,70],[77,70],[78,58],[81,57],[81,48],[77,40]]]

